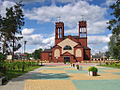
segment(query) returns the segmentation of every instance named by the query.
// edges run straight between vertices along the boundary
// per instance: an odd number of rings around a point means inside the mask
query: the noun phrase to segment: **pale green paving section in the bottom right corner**
[[[77,90],[120,90],[120,79],[72,80]]]

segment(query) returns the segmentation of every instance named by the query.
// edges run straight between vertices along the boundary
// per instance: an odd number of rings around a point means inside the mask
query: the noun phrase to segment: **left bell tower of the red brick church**
[[[55,44],[57,44],[64,37],[64,23],[56,22],[55,23]]]

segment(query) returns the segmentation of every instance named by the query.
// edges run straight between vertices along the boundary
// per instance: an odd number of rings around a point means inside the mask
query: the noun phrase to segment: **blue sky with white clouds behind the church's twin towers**
[[[13,6],[17,0],[0,0],[0,13]],[[54,45],[55,22],[58,17],[65,25],[65,35],[78,35],[78,21],[87,20],[88,47],[92,54],[108,50],[111,31],[106,22],[111,19],[109,5],[115,0],[23,0],[25,25],[22,28],[23,43],[27,40],[27,52]],[[19,50],[23,52],[23,47]]]

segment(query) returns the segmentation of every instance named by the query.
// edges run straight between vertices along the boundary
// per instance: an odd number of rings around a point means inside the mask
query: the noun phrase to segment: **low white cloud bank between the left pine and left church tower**
[[[21,40],[21,44],[23,45],[23,42],[27,41],[26,51],[29,53],[33,52],[35,49],[50,48],[54,45],[53,34],[46,38],[44,34],[34,34],[33,28],[24,28],[22,32],[23,39]],[[23,52],[23,47],[18,52]]]

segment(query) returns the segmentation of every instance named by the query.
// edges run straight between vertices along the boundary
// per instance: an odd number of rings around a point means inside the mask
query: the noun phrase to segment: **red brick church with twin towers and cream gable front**
[[[50,62],[81,62],[90,60],[91,49],[87,47],[87,22],[79,21],[78,36],[65,36],[64,23],[55,24],[55,46],[45,49],[41,59]]]

